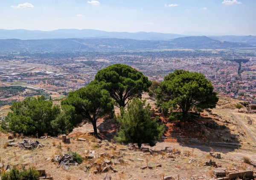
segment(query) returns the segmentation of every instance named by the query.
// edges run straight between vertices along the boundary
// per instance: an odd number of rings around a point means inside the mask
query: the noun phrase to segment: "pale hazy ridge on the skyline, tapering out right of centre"
[[[0,39],[67,39],[67,38],[127,38],[143,40],[166,40],[184,37],[179,34],[164,34],[155,32],[107,32],[93,29],[58,29],[53,31],[29,31],[24,29],[0,29]]]

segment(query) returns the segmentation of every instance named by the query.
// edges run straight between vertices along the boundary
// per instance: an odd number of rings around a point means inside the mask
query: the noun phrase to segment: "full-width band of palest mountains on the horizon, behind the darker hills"
[[[242,42],[250,45],[256,45],[256,36],[231,36],[224,34],[201,33],[201,32],[184,32],[183,34],[165,34],[155,32],[107,32],[93,29],[58,29],[53,31],[30,31],[25,29],[5,30],[0,29],[0,39],[110,39],[125,38],[137,40],[168,40],[178,37],[188,36],[207,36],[212,39],[231,42]]]

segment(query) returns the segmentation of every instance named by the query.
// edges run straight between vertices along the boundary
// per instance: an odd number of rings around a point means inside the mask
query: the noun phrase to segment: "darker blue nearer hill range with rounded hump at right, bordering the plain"
[[[209,37],[179,37],[169,40],[137,40],[137,39],[1,39],[0,50],[88,50],[88,51],[123,51],[136,49],[165,48],[242,48],[253,47],[247,43],[228,42]]]

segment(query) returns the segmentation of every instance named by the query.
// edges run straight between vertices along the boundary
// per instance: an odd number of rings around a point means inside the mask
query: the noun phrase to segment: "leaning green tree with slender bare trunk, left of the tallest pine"
[[[89,124],[93,125],[97,137],[97,121],[108,113],[112,113],[113,100],[107,90],[102,89],[103,83],[91,82],[86,87],[70,92],[67,99],[61,101],[61,106],[71,105],[75,113]]]

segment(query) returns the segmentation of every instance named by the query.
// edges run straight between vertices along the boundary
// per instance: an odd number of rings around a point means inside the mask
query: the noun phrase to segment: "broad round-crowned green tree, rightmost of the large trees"
[[[175,70],[160,82],[157,88],[157,105],[164,103],[168,109],[177,109],[184,116],[191,107],[214,108],[218,102],[214,87],[203,74]]]

